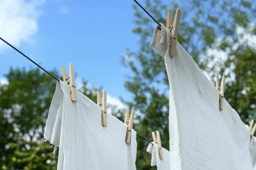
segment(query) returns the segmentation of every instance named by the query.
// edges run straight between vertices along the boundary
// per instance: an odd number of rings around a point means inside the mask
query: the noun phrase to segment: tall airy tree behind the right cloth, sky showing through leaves
[[[212,82],[216,75],[225,75],[225,98],[248,123],[255,116],[256,104],[256,53],[246,36],[255,36],[255,1],[248,0],[191,0],[179,4],[163,4],[160,0],[145,0],[145,9],[166,23],[167,7],[182,11],[179,43],[193,57]],[[151,131],[159,130],[162,146],[169,149],[169,84],[164,59],[149,46],[156,23],[137,5],[134,5],[133,32],[140,36],[138,51],[127,49],[122,62],[133,75],[128,76],[125,88],[133,94],[125,101],[139,111],[134,129],[151,139]],[[240,32],[239,32],[240,30]],[[242,30],[242,31],[241,31]],[[225,54],[219,60],[210,52]],[[127,60],[127,58],[129,60]],[[172,140],[172,139],[170,139]],[[150,167],[150,155],[145,152],[146,141],[137,138],[137,169]]]

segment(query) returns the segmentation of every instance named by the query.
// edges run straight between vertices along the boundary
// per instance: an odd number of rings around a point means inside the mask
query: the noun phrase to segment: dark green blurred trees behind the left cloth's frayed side
[[[62,80],[56,70],[50,72]],[[0,85],[0,169],[56,169],[58,154],[44,142],[44,127],[56,80],[41,70],[11,68],[9,84]],[[83,82],[82,92],[97,101],[96,89]]]

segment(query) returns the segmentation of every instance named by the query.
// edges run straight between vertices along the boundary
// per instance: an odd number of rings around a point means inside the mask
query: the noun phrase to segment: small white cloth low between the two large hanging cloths
[[[148,144],[146,151],[151,154],[151,166],[157,166],[157,170],[170,169],[170,153],[167,149],[162,148],[163,160],[159,157],[159,150],[156,143],[151,142]]]

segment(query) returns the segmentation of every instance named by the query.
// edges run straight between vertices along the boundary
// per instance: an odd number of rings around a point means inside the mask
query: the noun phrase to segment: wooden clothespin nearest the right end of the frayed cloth
[[[134,109],[132,110],[131,116],[130,116],[130,110],[126,109],[124,124],[127,125],[126,137],[125,137],[125,142],[127,144],[129,144],[131,142],[131,134],[132,134],[132,128],[133,128],[134,115],[135,115]]]

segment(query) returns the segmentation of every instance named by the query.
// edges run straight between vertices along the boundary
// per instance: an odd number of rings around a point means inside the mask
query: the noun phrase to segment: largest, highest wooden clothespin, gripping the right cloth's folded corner
[[[180,25],[180,15],[181,15],[181,10],[177,9],[174,20],[172,22],[172,10],[168,9],[166,28],[169,29],[171,33],[170,48],[169,48],[170,57],[175,56],[176,54],[176,44],[177,44],[179,25]]]

